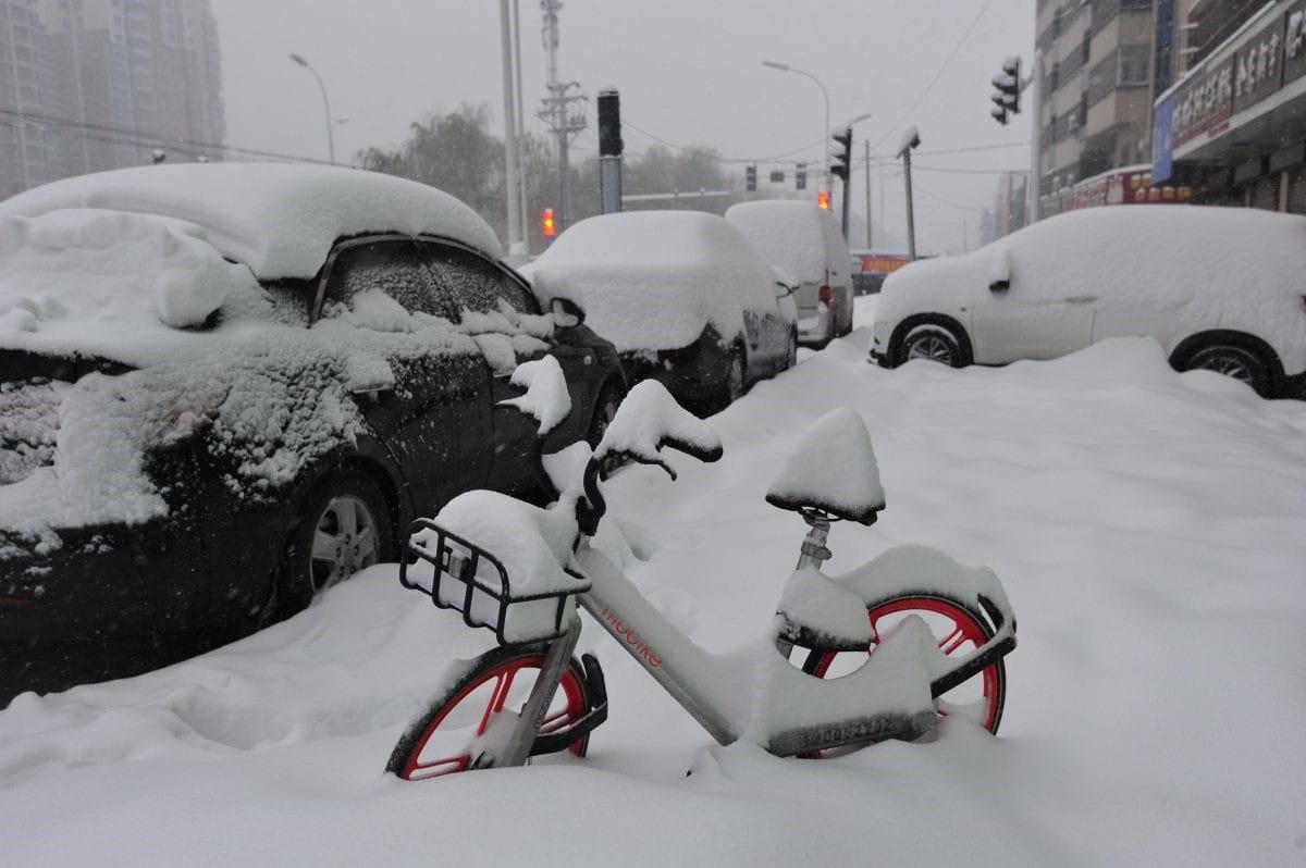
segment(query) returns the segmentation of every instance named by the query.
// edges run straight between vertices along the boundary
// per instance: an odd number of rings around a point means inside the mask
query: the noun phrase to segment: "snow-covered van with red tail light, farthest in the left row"
[[[835,215],[814,202],[739,202],[726,219],[797,282],[798,342],[823,347],[853,330],[853,277],[848,243]]]

